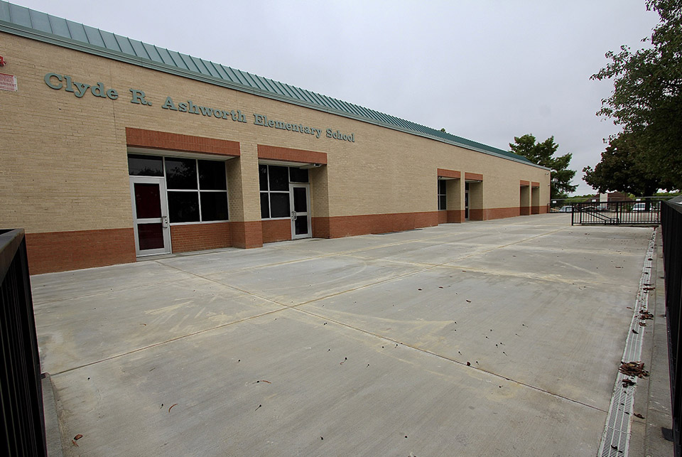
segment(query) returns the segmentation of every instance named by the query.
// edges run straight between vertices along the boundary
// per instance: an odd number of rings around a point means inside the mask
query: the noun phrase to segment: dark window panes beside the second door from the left
[[[308,170],[294,167],[265,165],[258,166],[261,190],[261,219],[289,217],[289,183],[307,183]]]

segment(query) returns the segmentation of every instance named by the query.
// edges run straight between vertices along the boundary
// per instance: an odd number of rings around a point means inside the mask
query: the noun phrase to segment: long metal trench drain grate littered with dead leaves
[[[625,340],[625,350],[623,351],[623,362],[637,362],[642,357],[642,340],[644,339],[644,328],[639,325],[642,314],[649,310],[649,291],[651,291],[651,269],[654,262],[654,247],[656,242],[656,230],[651,235],[649,248],[646,249],[644,267],[642,267],[642,278],[639,279],[639,290],[637,291],[637,302],[634,306],[632,321]],[[635,333],[637,332],[637,333]],[[613,388],[609,414],[606,419],[606,427],[602,434],[602,442],[599,446],[600,457],[624,457],[628,454],[630,424],[632,421],[632,408],[634,406],[634,392],[637,388],[637,377],[624,375],[618,372],[616,383]],[[623,380],[634,381],[623,384]]]

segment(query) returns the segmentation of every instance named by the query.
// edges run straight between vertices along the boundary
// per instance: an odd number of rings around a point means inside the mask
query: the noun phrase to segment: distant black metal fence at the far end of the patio
[[[653,226],[661,222],[661,201],[575,203],[565,212],[572,213],[570,225]]]

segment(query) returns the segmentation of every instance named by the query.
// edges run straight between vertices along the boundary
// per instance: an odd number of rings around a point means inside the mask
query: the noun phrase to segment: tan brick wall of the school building
[[[331,218],[315,222],[319,233],[335,227],[334,217],[406,213],[416,222],[405,225],[390,216],[394,227],[437,223],[438,168],[481,174],[483,208],[518,209],[519,180],[538,182],[539,206],[548,203],[549,176],[540,168],[26,38],[0,37],[10,62],[3,71],[16,75],[19,89],[0,92],[0,224],[5,227],[25,227],[28,233],[131,227],[126,127],[237,141],[241,156],[227,161],[232,222],[260,221],[259,144],[327,154],[328,165],[310,171],[313,217]],[[48,72],[90,85],[102,82],[116,89],[119,99],[90,92],[77,98],[51,89],[43,80]],[[131,88],[146,92],[151,106],[131,103]],[[168,96],[175,104],[192,100],[240,110],[247,122],[162,109]],[[323,133],[318,139],[254,125],[254,113]],[[328,139],[327,128],[353,133],[355,141]],[[426,213],[433,217],[414,219]],[[385,224],[365,221],[343,230]],[[251,225],[232,232],[234,244],[259,245],[246,227]]]

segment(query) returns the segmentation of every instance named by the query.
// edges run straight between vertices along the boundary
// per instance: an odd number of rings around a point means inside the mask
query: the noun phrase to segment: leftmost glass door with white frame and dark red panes
[[[130,195],[136,254],[169,254],[171,229],[168,226],[166,182],[163,177],[131,176]]]

